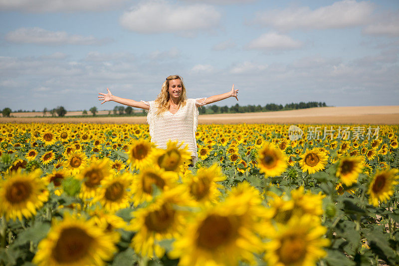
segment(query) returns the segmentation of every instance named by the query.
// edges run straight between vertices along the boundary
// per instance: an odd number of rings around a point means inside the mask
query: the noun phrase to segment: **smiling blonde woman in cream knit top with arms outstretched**
[[[99,93],[101,104],[114,101],[124,105],[148,110],[147,122],[150,125],[151,141],[158,148],[166,149],[169,140],[184,142],[188,145],[193,163],[197,161],[197,143],[195,133],[198,124],[198,107],[209,103],[235,97],[238,101],[238,90],[210,96],[207,98],[187,99],[186,87],[183,78],[179,75],[171,75],[162,84],[161,93],[155,101],[135,101],[124,99],[107,93]]]

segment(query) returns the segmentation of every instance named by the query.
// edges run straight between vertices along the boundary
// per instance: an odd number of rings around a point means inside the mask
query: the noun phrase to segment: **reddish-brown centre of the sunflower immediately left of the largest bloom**
[[[165,232],[175,220],[175,210],[170,205],[162,205],[160,210],[150,212],[145,218],[146,227],[155,232]]]

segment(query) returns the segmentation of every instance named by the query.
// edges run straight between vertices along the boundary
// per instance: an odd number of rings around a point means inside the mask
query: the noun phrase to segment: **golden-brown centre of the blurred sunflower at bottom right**
[[[280,261],[284,265],[295,264],[306,255],[306,246],[303,238],[299,236],[286,236],[277,251]]]

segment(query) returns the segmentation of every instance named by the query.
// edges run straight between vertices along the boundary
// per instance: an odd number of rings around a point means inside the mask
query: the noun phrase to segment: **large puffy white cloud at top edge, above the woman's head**
[[[120,17],[120,24],[141,33],[206,30],[215,27],[220,13],[211,5],[171,4],[165,0],[140,3]]]

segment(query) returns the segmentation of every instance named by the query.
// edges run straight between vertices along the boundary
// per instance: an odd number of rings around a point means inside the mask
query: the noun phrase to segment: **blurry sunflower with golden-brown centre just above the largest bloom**
[[[217,197],[220,195],[218,189],[222,189],[223,186],[217,184],[225,180],[226,177],[221,173],[221,169],[217,164],[213,164],[209,168],[200,168],[195,176],[190,176],[186,180],[188,190],[191,197],[198,202],[215,202]]]

